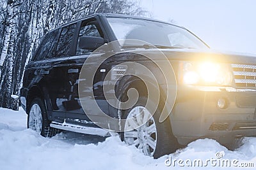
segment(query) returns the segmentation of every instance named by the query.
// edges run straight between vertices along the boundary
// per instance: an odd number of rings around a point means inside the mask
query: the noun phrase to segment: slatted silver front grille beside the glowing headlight
[[[231,64],[236,87],[256,87],[256,66]]]

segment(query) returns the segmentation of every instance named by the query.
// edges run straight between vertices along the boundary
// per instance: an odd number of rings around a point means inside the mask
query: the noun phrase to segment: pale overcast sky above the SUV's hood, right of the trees
[[[256,54],[255,0],[141,0],[154,18],[182,25],[211,48]]]

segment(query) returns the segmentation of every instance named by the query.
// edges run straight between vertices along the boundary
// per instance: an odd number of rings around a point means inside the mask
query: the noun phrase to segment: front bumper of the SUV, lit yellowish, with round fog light
[[[227,108],[218,107],[225,99]],[[256,136],[256,90],[223,87],[178,87],[170,116],[173,134],[186,145],[198,138],[229,143]]]

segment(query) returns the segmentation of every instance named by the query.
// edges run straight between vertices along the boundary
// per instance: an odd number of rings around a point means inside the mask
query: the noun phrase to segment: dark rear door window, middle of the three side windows
[[[72,46],[72,39],[74,36],[74,31],[76,29],[76,24],[68,25],[63,27],[60,34],[60,39],[56,48],[55,57],[65,57],[70,55],[70,48]]]

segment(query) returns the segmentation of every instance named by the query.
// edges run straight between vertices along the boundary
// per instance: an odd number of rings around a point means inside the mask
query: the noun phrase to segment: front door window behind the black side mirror
[[[79,40],[81,36],[97,36],[97,37],[102,37],[102,34],[100,34],[100,29],[99,26],[97,26],[96,21],[91,21],[91,22],[82,22],[81,28],[79,31],[79,36],[77,39],[77,47],[76,47],[76,55],[82,55],[84,53],[90,53],[92,50],[89,49],[81,49],[79,48]]]

